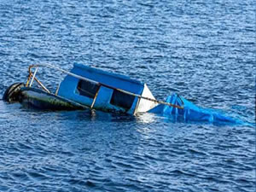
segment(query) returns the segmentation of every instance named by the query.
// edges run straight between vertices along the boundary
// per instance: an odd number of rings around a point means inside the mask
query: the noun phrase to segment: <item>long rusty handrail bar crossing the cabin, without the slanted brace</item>
[[[91,80],[91,79],[84,78],[84,77],[82,77],[82,76],[80,76],[80,75],[77,75],[77,74],[68,72],[68,71],[66,71],[66,70],[64,70],[64,69],[61,69],[61,68],[59,68],[59,67],[55,67],[55,66],[50,65],[50,64],[35,64],[35,65],[29,66],[29,68],[28,68],[29,77],[28,77],[27,81],[29,81],[30,78],[32,77],[32,71],[31,71],[31,69],[32,69],[33,67],[49,67],[49,68],[54,68],[54,69],[56,69],[56,70],[58,70],[58,71],[61,71],[62,73],[66,73],[66,74],[68,74],[68,75],[70,75],[70,76],[73,76],[74,78],[82,79],[82,80],[85,80],[85,81],[90,81],[91,83],[98,84],[98,85],[100,85],[100,86],[102,85],[102,86],[105,86],[105,87],[107,87],[107,88],[109,88],[109,89],[112,89],[112,90],[119,90],[120,92],[123,92],[123,93],[125,93],[125,94],[127,94],[127,95],[130,95],[130,96],[136,96],[136,97],[138,97],[138,98],[140,98],[140,99],[145,99],[145,100],[148,100],[148,101],[150,101],[150,102],[157,102],[157,103],[164,104],[164,105],[167,105],[167,106],[170,106],[170,107],[173,107],[173,108],[179,108],[179,109],[183,109],[183,108],[184,108],[184,103],[183,103],[183,100],[182,100],[181,97],[179,97],[179,98],[180,98],[180,100],[181,100],[181,102],[182,102],[182,106],[178,106],[178,105],[175,105],[175,104],[172,104],[172,103],[169,103],[169,102],[158,101],[158,100],[156,100],[156,99],[148,98],[148,97],[146,97],[146,96],[140,96],[140,95],[131,93],[131,92],[127,91],[127,90],[121,90],[121,89],[115,88],[115,87],[110,86],[110,85],[108,85],[108,84],[102,84],[102,83],[100,83],[100,82],[97,82],[97,81],[94,81],[94,80]]]

